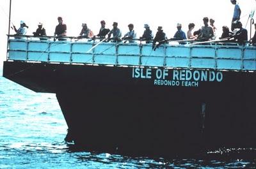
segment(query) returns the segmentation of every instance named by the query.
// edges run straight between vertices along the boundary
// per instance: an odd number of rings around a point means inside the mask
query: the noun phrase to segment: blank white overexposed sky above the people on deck
[[[241,21],[244,26],[251,10],[255,8],[255,0],[237,0],[242,9]],[[58,24],[57,17],[63,17],[67,24],[68,36],[77,36],[81,31],[81,24],[87,23],[93,33],[97,34],[100,20],[106,20],[106,26],[111,28],[113,22],[118,22],[123,34],[128,31],[127,25],[134,24],[137,36],[143,33],[143,24],[150,24],[156,33],[157,26],[163,26],[168,38],[177,31],[177,23],[188,31],[188,24],[194,22],[195,30],[202,25],[202,18],[214,18],[221,34],[221,27],[230,27],[234,5],[230,0],[12,0],[12,22],[19,27],[20,20],[29,26],[28,34],[36,30],[38,22],[43,22],[47,35],[54,33]],[[8,33],[9,1],[0,1],[0,47],[1,59],[6,57],[6,34]],[[248,27],[249,30],[249,27]],[[254,32],[254,30],[253,30]],[[11,31],[14,34],[14,31]]]

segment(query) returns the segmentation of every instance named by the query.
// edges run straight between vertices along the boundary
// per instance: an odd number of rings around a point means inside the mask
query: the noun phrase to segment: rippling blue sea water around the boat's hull
[[[74,151],[63,141],[66,133],[54,94],[36,93],[0,76],[0,168],[256,168],[256,156],[229,156],[230,149],[206,153],[218,158],[191,159]]]

